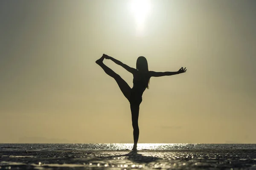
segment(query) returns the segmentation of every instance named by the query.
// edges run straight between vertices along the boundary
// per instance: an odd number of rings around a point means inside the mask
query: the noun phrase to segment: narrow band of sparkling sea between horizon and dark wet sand
[[[0,150],[131,150],[133,144],[0,144]],[[256,144],[138,144],[138,150],[256,149]]]

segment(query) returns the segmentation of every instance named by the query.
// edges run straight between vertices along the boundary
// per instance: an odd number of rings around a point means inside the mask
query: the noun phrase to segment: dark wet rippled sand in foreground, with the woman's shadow
[[[24,150],[1,151],[1,169],[256,170],[256,150]],[[242,169],[241,169],[242,168]]]

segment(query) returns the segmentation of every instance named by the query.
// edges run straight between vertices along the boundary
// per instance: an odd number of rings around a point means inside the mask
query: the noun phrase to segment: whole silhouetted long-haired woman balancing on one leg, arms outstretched
[[[104,59],[111,59],[117,65],[121,65],[131,74],[133,74],[133,77],[134,77],[133,88],[130,88],[127,82],[125,82],[124,79],[122,79],[118,74],[116,74],[113,70],[111,70],[111,68],[108,68],[108,66],[106,66],[103,63]],[[143,56],[138,57],[137,63],[136,63],[136,69],[131,68],[128,65],[125,65],[124,63],[106,54],[103,54],[102,57],[96,61],[96,63],[99,66],[101,66],[101,68],[105,71],[106,74],[108,74],[109,76],[113,77],[116,80],[120,90],[122,91],[122,94],[124,94],[126,99],[128,99],[128,101],[130,102],[131,120],[132,120],[132,127],[133,127],[133,136],[134,136],[134,146],[132,150],[137,150],[137,143],[139,139],[138,118],[139,118],[140,103],[142,102],[143,92],[145,91],[146,88],[148,88],[149,79],[151,77],[171,76],[175,74],[185,73],[186,68],[182,67],[180,68],[179,71],[176,71],[176,72],[148,71],[148,62],[147,62],[147,59]]]

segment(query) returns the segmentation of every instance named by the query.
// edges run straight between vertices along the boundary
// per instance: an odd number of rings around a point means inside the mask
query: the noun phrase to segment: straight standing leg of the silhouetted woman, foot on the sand
[[[140,105],[133,105],[131,104],[131,120],[132,120],[132,127],[133,127],[133,135],[134,135],[134,146],[132,150],[137,150],[137,143],[139,140],[139,124],[138,124],[138,119],[139,119],[139,111],[140,111]]]

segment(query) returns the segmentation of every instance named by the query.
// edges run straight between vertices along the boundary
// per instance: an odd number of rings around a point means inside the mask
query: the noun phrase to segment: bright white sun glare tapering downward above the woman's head
[[[142,34],[145,27],[145,19],[148,16],[151,9],[150,0],[132,0],[131,12],[135,16],[137,25],[137,33]]]

